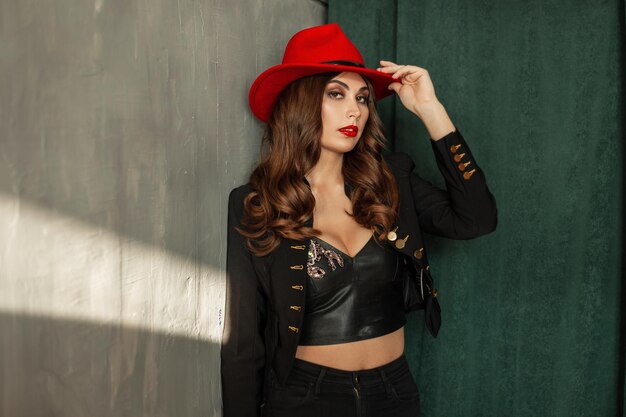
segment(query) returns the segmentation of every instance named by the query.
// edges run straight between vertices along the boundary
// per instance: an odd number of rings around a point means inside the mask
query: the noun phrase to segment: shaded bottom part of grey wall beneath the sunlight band
[[[0,335],[2,417],[221,415],[216,343],[7,312]]]

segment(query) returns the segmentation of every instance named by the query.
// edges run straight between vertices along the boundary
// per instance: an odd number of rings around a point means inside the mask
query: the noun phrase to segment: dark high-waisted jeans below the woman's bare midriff
[[[267,417],[419,417],[404,354],[378,368],[343,371],[296,358],[284,385],[270,373]]]

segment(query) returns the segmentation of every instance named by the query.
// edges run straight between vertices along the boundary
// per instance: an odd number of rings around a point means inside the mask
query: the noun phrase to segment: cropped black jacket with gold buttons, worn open
[[[427,274],[430,267],[422,232],[471,239],[495,230],[497,223],[495,199],[461,133],[457,130],[430,142],[447,191],[414,173],[415,164],[408,155],[385,157],[400,198],[397,239],[388,243],[412,259],[416,271],[421,268]],[[221,346],[224,417],[261,415],[269,365],[284,383],[305,310],[306,241],[285,239],[269,255],[257,257],[245,249],[244,238],[234,229],[250,191],[249,185],[235,188],[228,202],[228,285]]]

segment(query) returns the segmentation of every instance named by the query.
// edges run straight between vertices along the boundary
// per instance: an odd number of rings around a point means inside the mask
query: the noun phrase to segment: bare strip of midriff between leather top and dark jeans
[[[334,345],[301,346],[296,358],[345,371],[376,368],[404,352],[404,326],[372,339]]]

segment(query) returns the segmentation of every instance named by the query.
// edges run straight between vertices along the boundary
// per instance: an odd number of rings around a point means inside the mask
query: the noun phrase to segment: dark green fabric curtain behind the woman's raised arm
[[[423,415],[623,415],[621,0],[333,0],[328,16],[368,66],[429,71],[498,203],[490,235],[427,236],[443,324],[433,339],[413,313],[406,339]],[[444,186],[421,121],[379,108],[391,147]]]

